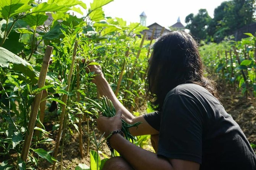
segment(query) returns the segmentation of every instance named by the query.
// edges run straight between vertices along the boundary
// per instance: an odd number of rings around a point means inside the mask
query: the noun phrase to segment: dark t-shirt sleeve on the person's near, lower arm
[[[190,97],[172,94],[161,114],[158,155],[202,162],[202,114]]]

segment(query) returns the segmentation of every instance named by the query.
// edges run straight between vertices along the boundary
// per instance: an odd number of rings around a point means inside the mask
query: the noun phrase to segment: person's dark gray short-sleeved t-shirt
[[[162,112],[144,118],[159,130],[158,155],[198,162],[200,170],[256,170],[256,156],[244,133],[204,87],[175,87]]]

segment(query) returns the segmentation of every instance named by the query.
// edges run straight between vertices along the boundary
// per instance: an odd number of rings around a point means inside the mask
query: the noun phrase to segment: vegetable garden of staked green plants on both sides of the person
[[[112,1],[94,0],[90,6],[80,0],[0,2],[0,169],[42,169],[45,161],[45,169],[69,169],[62,158],[75,133],[79,156],[91,160],[90,167],[81,162],[75,169],[102,168],[110,153],[100,150],[105,144],[94,132],[95,119],[99,111],[113,116],[115,110],[91,82],[89,65],[101,65],[131,112],[152,111],[144,88],[152,37],[140,34],[147,27],[139,23],[105,17],[102,6]],[[206,74],[233,91],[241,89],[256,106],[256,37],[247,35],[238,42],[202,45],[200,52]],[[149,139],[125,136],[141,147]]]

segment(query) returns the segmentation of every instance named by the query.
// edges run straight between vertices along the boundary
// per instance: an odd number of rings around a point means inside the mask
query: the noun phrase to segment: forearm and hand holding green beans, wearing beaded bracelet
[[[105,136],[108,136],[113,130],[121,129],[121,116],[121,111],[118,111],[112,118],[100,116],[97,119],[98,129],[105,132]],[[136,170],[199,170],[200,165],[196,162],[157,156],[155,153],[134,145],[120,134],[110,137],[110,145]]]

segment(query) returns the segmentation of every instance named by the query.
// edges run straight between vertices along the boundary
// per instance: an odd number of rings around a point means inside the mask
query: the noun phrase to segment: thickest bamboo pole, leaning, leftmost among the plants
[[[52,54],[52,49],[53,49],[53,47],[51,47],[51,46],[46,47],[44,58],[43,58],[43,64],[42,64],[39,79],[37,82],[38,88],[41,88],[44,86],[45,78],[46,78],[46,74],[47,74],[47,70],[48,70],[48,66],[49,66],[49,60],[50,60],[50,56]],[[28,123],[28,131],[26,132],[24,146],[23,146],[22,152],[21,152],[21,159],[23,159],[25,162],[27,160],[29,148],[30,148],[31,141],[32,141],[32,136],[33,136],[34,127],[36,124],[37,112],[39,109],[39,104],[41,102],[42,93],[43,93],[43,91],[36,94],[34,103],[32,105],[32,112],[30,114],[29,123]]]

